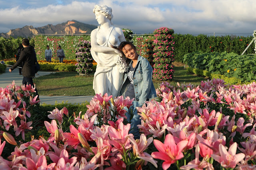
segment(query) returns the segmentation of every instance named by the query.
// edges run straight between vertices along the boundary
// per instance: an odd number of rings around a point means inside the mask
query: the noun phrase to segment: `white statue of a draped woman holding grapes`
[[[100,24],[91,32],[91,54],[97,62],[93,89],[95,94],[108,93],[108,96],[117,97],[123,82],[123,73],[120,73],[116,59],[122,56],[122,52],[112,48],[111,45],[118,46],[126,40],[122,29],[114,27],[111,22],[112,8],[106,5],[96,5],[93,12]]]

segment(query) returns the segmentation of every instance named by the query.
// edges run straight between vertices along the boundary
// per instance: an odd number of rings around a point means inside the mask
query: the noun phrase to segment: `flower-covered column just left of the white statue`
[[[80,40],[76,47],[76,71],[79,75],[88,75],[92,72],[91,42]]]

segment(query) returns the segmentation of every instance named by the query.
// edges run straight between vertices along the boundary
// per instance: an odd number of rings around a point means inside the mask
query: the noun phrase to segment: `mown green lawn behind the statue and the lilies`
[[[174,67],[174,75],[172,81],[169,81],[171,85],[176,85],[177,82],[192,83],[199,85],[204,77],[198,77],[186,72],[184,67]],[[36,88],[40,95],[56,96],[56,95],[95,95],[92,89],[93,74],[87,76],[79,76],[76,72],[56,72],[49,75],[41,76],[34,79]],[[154,81],[155,88],[162,81]]]

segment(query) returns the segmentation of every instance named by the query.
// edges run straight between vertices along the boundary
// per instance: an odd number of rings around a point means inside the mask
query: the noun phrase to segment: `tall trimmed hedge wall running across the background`
[[[125,33],[125,32],[124,32]],[[129,32],[130,33],[130,32]],[[130,35],[130,34],[127,34]],[[148,37],[133,36],[132,41],[137,44],[137,38]],[[183,56],[187,53],[200,50],[202,52],[234,52],[241,54],[247,45],[252,41],[253,36],[206,36],[200,34],[198,36],[192,36],[190,34],[172,34],[172,41],[175,42],[173,47],[175,48],[175,61],[183,61]],[[75,59],[76,43],[80,40],[90,41],[90,36],[35,36],[30,38],[30,44],[35,47],[38,59],[44,60],[44,50],[46,45],[50,45],[52,49],[54,59],[56,57],[56,51],[58,45],[62,46],[66,54],[66,59]],[[143,38],[145,39],[145,38]],[[152,39],[152,38],[151,38]],[[21,43],[22,38],[2,38],[0,37],[0,59],[12,58],[17,52],[18,45]],[[143,44],[142,44],[143,45]],[[138,47],[140,50],[140,47]],[[246,54],[254,53],[254,44],[250,45]]]

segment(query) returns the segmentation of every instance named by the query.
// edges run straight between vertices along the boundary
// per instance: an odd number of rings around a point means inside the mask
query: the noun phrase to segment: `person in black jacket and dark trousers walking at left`
[[[36,52],[34,47],[30,46],[29,40],[24,38],[22,40],[23,49],[20,51],[20,57],[16,63],[9,69],[10,72],[18,67],[22,63],[22,75],[23,85],[31,85],[34,88],[33,77],[35,77],[35,65],[36,65]],[[35,88],[36,95],[38,91]]]

